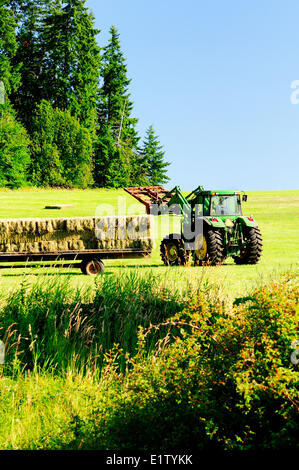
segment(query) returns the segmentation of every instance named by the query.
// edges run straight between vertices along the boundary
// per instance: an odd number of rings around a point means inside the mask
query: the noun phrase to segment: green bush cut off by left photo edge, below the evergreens
[[[2,108],[2,109],[1,109]],[[26,183],[30,163],[29,138],[12,109],[0,105],[0,186],[19,188]]]

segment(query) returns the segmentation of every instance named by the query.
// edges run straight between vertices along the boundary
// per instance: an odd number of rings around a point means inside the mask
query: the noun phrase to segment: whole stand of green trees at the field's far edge
[[[85,3],[0,1],[0,186],[169,179],[153,126],[138,135],[119,33],[100,47]]]

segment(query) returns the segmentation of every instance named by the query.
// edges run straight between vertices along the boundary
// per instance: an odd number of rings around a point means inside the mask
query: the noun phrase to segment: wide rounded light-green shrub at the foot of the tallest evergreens
[[[86,188],[92,179],[92,137],[69,110],[42,101],[32,123],[32,182]]]

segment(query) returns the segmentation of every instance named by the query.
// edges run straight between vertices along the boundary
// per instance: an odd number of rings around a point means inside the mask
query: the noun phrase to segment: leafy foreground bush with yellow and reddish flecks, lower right
[[[238,304],[238,305],[237,305]],[[298,325],[292,279],[239,299],[232,311],[200,295],[150,358],[140,332],[126,377],[108,382],[87,448],[282,449],[298,445]],[[296,310],[297,309],[297,310]],[[296,314],[297,311],[297,314]],[[113,356],[112,356],[113,357]],[[110,364],[109,376],[113,369]],[[109,383],[109,385],[108,385]],[[91,423],[90,423],[91,425]]]

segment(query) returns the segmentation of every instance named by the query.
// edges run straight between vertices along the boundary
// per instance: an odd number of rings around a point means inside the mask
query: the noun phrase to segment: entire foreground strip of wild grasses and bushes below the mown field
[[[294,275],[234,302],[153,274],[70,286],[53,278],[2,297],[1,449],[297,445]]]

